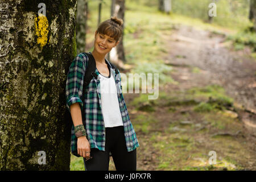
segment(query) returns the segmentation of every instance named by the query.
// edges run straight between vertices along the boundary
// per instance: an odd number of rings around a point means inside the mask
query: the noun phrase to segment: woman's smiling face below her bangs
[[[115,42],[113,38],[110,38],[108,35],[100,34],[97,31],[95,32],[95,41],[94,48],[99,53],[108,53],[111,49],[117,46],[118,42]]]

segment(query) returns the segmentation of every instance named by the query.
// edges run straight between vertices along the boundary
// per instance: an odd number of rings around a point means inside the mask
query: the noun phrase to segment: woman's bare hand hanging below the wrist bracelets
[[[90,143],[84,136],[77,138],[77,154],[84,158],[90,156]]]

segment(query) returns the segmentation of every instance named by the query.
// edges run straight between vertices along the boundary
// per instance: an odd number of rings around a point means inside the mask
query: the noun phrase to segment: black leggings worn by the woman
[[[123,126],[106,127],[105,131],[105,151],[91,148],[90,155],[93,158],[89,159],[87,162],[85,162],[84,158],[85,170],[108,171],[109,152],[111,152],[117,171],[136,171],[136,149],[131,152],[127,151]]]

